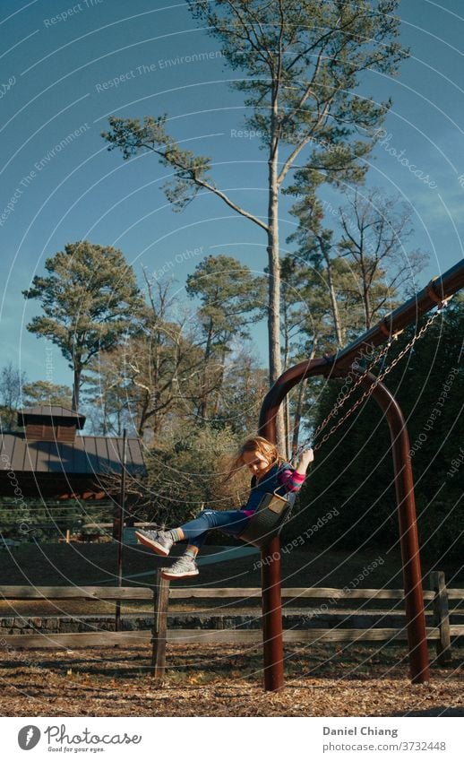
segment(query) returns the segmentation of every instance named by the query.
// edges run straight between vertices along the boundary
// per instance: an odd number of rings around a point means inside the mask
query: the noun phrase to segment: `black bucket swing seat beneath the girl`
[[[296,492],[288,494],[287,497],[280,497],[274,493],[265,494],[245,529],[238,535],[238,539],[259,549],[265,547],[271,539],[279,536],[284,523],[290,517],[295,500]]]

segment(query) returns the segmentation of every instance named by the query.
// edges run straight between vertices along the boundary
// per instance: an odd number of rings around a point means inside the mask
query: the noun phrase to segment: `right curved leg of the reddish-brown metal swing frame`
[[[375,376],[368,373],[361,381],[361,385],[370,388],[375,380]],[[375,383],[372,396],[382,408],[390,428],[398,522],[400,525],[409,670],[412,683],[422,684],[430,680],[430,670],[408,429],[398,402],[385,385],[379,382]]]

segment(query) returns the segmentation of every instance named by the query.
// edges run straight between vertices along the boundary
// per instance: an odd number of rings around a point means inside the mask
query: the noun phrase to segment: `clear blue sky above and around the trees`
[[[411,57],[398,78],[373,73],[366,82],[376,99],[393,99],[368,184],[411,204],[408,246],[430,255],[420,287],[463,251],[463,16],[458,0],[405,0],[401,41]],[[4,0],[0,39],[2,364],[12,360],[30,379],[69,384],[59,350],[51,362],[47,342],[26,330],[38,307],[21,296],[65,243],[89,238],[120,247],[139,277],[142,265],[164,270],[179,289],[203,255],[234,255],[258,272],[266,264],[262,231],[224,203],[202,194],[175,213],[154,157],[123,162],[109,153],[100,137],[108,115],[168,113],[169,131],[212,157],[217,185],[262,215],[265,154],[255,139],[234,136],[245,115],[240,93],[227,84],[237,74],[183,3]],[[282,203],[282,242],[294,224]],[[263,334],[257,339],[264,343]]]

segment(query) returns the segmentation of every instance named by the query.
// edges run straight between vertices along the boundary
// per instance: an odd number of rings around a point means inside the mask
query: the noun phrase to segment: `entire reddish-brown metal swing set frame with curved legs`
[[[365,356],[374,347],[391,342],[409,324],[415,323],[418,317],[434,307],[443,308],[446,301],[462,288],[464,263],[460,262],[440,278],[430,281],[425,289],[391,312],[391,315],[384,317],[339,354],[300,362],[288,369],[265,396],[259,421],[260,435],[275,443],[276,418],[281,402],[293,386],[312,376],[331,379],[354,373],[358,376],[359,384],[369,389],[369,395],[381,407],[391,433],[408,627],[409,670],[410,679],[416,684],[428,682],[430,670],[408,430],[400,406],[388,388],[370,372],[359,373],[356,363],[359,355]],[[266,560],[265,563],[262,562],[263,672],[266,690],[277,690],[284,684],[279,549],[279,536],[266,542],[261,549],[262,560]]]

